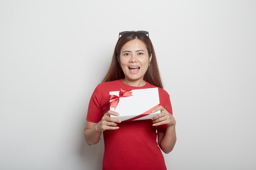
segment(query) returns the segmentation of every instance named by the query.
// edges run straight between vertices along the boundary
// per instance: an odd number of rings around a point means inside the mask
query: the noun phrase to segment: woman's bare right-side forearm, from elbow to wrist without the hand
[[[166,132],[159,143],[159,147],[164,153],[168,154],[173,150],[176,143],[175,124],[167,127]]]

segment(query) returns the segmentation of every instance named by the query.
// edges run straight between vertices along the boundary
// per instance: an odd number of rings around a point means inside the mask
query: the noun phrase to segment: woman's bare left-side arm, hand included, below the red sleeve
[[[121,123],[121,120],[110,117],[110,115],[118,116],[119,113],[116,113],[112,110],[108,110],[108,112],[104,114],[101,121],[99,121],[98,123],[93,123],[90,121],[86,122],[85,130],[83,131],[83,136],[85,142],[88,145],[97,144],[101,137],[101,132],[105,130],[119,129],[117,123]]]

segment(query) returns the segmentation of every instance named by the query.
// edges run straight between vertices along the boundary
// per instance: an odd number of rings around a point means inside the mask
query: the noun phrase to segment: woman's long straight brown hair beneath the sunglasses
[[[108,72],[101,82],[110,82],[118,79],[123,79],[125,77],[124,72],[120,66],[120,51],[124,44],[134,39],[139,39],[144,42],[148,50],[148,57],[150,57],[150,55],[152,54],[150,66],[148,67],[148,70],[146,71],[143,79],[154,86],[163,88],[162,80],[157,66],[157,59],[155,57],[155,50],[153,48],[151,40],[148,38],[148,36],[138,37],[135,34],[130,35],[128,38],[120,37],[120,39],[117,41],[112,61],[108,68]]]

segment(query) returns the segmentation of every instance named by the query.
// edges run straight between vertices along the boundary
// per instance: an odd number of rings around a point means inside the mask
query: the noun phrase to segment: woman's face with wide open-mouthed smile
[[[120,63],[126,81],[142,81],[151,58],[152,54],[148,56],[146,45],[141,40],[134,39],[124,44],[120,51]]]

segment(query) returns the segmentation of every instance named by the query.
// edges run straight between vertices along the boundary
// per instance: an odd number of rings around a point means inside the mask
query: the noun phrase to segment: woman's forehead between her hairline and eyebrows
[[[138,39],[134,39],[134,40],[130,40],[128,42],[126,42],[126,44],[124,44],[124,46],[122,46],[121,48],[121,52],[122,51],[137,51],[137,50],[144,50],[147,51],[146,45],[144,44],[144,42],[142,42],[141,40]]]

